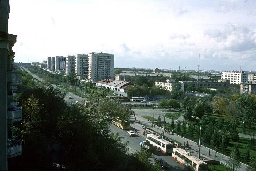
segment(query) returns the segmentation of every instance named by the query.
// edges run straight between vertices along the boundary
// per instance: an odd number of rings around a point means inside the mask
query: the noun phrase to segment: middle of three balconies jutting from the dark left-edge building
[[[8,122],[17,122],[22,120],[22,107],[8,106],[7,108]]]

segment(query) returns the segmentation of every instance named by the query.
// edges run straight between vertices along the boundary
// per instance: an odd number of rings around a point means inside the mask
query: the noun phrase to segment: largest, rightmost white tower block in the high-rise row
[[[90,53],[88,56],[88,79],[104,80],[114,77],[114,54]]]

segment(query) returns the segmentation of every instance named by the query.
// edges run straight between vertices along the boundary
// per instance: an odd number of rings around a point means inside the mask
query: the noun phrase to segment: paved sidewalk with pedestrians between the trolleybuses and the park
[[[149,113],[149,111],[150,110],[147,110],[147,113]],[[156,112],[156,110],[151,110],[151,111]],[[136,116],[136,121],[140,121],[140,124],[136,123],[136,122],[132,122],[132,123],[130,123],[130,126],[137,130],[137,134],[139,136],[145,137],[145,139],[146,139],[146,135],[143,136],[142,125],[144,125],[145,128],[152,129],[152,131],[154,131],[154,132],[161,133],[163,131],[163,128],[157,127],[156,125],[155,125],[155,128],[151,127],[150,121],[148,121],[147,119],[142,117],[142,116],[148,116],[148,115],[145,114],[144,110],[134,109],[134,112],[135,112],[135,116]],[[161,111],[157,111],[157,113],[161,113]],[[158,114],[157,114],[157,117],[158,117]],[[131,119],[131,121],[134,120],[134,116],[130,117],[130,119]],[[179,142],[181,145],[183,145],[184,142],[186,143],[186,141],[188,141],[189,146],[190,146],[191,149],[186,149],[186,150],[191,152],[193,156],[196,156],[196,157],[198,156],[198,146],[196,146],[196,142],[191,141],[191,140],[186,139],[186,138],[183,138],[183,137],[178,136],[178,135],[172,135],[172,134],[164,134],[164,135],[166,137],[168,137],[169,139],[173,139],[174,141]],[[213,160],[221,161],[223,163],[227,163],[227,159],[228,159],[227,156],[225,156],[223,154],[220,154],[218,152],[215,152],[212,149],[210,149],[211,154],[209,155],[209,153],[208,153],[209,149],[210,148],[207,148],[207,147],[204,147],[204,146],[201,145],[201,150],[200,150],[200,158],[201,159],[205,159],[205,160],[213,159]],[[247,167],[246,164],[241,163],[241,166],[240,166],[240,168],[238,168],[238,170],[245,171],[246,167]]]

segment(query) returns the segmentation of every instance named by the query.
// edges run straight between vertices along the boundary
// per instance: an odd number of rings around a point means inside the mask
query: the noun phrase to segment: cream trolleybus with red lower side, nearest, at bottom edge
[[[193,171],[207,171],[208,164],[192,156],[189,152],[185,151],[182,148],[173,148],[172,149],[172,158],[179,162],[180,164],[188,167]]]

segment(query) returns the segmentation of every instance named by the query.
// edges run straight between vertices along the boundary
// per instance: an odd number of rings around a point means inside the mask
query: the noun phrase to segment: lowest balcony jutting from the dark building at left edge
[[[7,140],[7,158],[13,158],[21,155],[21,140]]]

